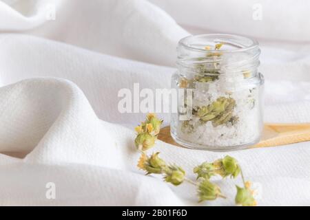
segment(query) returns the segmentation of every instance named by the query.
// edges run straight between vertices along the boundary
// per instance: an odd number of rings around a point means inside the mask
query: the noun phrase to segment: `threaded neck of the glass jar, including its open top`
[[[243,79],[258,76],[260,49],[256,41],[242,36],[189,36],[179,42],[177,52],[176,64],[179,72],[185,76],[243,76]]]

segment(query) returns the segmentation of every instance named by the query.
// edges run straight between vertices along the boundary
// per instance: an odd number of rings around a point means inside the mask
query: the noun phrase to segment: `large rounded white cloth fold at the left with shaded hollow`
[[[114,133],[68,80],[23,80],[0,89],[0,151],[25,153],[28,163],[119,168]]]

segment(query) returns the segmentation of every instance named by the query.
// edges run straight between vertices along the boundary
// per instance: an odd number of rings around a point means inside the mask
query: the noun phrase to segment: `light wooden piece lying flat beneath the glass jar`
[[[172,139],[170,135],[170,126],[165,126],[161,129],[158,140],[180,146]],[[251,146],[251,148],[280,146],[307,141],[310,141],[310,123],[265,124],[262,131],[262,139],[258,144]]]

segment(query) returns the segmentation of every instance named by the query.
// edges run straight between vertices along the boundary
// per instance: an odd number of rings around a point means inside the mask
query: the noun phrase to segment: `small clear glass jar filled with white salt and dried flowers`
[[[201,34],[178,43],[177,113],[171,135],[188,148],[247,148],[262,133],[264,79],[258,43],[243,36]]]

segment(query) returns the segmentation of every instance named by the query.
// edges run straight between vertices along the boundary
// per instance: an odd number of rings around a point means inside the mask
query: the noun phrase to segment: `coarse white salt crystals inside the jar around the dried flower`
[[[209,102],[200,101],[205,100],[205,96],[202,95],[200,99],[201,94],[199,91],[197,93],[198,96],[195,96],[194,93],[194,109],[202,107],[205,103],[211,104],[218,96],[234,98],[234,100],[236,100],[236,106],[232,113],[238,117],[238,120],[234,123],[228,122],[226,124],[213,126],[211,120],[201,123],[200,118],[193,115],[191,120],[189,120],[189,126],[185,126],[183,123],[178,124],[178,134],[180,138],[188,142],[195,140],[197,144],[207,146],[235,146],[258,140],[261,128],[257,120],[260,115],[260,109],[258,105],[255,104],[258,99],[257,89],[245,89],[234,92],[229,96],[225,96],[220,92],[210,91]],[[193,127],[195,131],[192,130]]]

